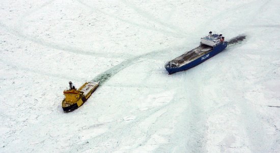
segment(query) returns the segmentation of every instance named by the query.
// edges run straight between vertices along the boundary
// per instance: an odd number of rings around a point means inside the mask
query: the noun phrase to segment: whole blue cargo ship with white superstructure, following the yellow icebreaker
[[[169,74],[173,74],[197,66],[225,49],[228,42],[224,40],[225,37],[222,37],[221,34],[212,35],[212,32],[209,32],[208,36],[201,38],[200,46],[167,62],[165,69]]]

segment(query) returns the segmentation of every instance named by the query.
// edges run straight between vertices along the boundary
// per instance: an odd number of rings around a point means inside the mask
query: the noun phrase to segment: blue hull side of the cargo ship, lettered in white
[[[225,41],[223,43],[220,43],[216,46],[213,47],[212,50],[210,50],[210,52],[207,52],[207,54],[204,54],[202,56],[198,56],[195,60],[191,61],[190,63],[186,63],[184,65],[181,65],[179,67],[169,67],[166,66],[168,64],[165,65],[165,69],[169,72],[169,74],[173,74],[179,71],[183,71],[183,70],[187,70],[190,69],[194,66],[197,66],[199,64],[201,64],[202,62],[210,59],[211,57],[217,55],[218,53],[220,53],[223,49],[225,49],[228,46],[228,42]]]

